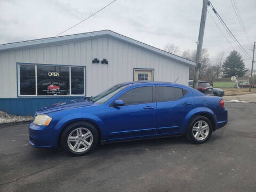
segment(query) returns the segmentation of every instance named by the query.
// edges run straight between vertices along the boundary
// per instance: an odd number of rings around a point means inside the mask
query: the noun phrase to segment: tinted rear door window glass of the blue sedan
[[[157,86],[156,102],[175,101],[183,97],[183,90],[178,87]]]

